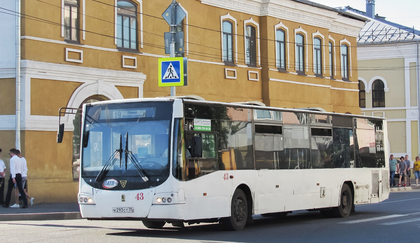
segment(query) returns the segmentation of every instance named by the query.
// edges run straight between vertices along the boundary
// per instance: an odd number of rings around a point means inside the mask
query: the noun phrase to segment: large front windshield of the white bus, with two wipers
[[[81,177],[105,190],[136,190],[169,176],[172,103],[87,105]]]

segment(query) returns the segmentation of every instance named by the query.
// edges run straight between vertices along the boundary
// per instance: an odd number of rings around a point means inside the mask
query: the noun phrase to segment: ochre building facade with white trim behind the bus
[[[169,57],[162,13],[170,4],[0,3],[0,148],[22,150],[37,202],[76,201],[80,115],[60,118],[57,144],[61,107],[170,96],[157,80],[157,59]],[[188,85],[177,96],[360,114],[356,37],[366,18],[307,0],[179,0],[179,8]]]

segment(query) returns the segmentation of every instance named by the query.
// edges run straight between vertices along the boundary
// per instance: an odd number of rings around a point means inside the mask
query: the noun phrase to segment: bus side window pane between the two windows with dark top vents
[[[309,127],[285,124],[283,125],[283,136],[284,165],[286,165],[288,169],[311,168]]]

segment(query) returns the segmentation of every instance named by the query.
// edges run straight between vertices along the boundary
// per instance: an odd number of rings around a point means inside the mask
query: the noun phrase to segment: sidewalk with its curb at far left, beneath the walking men
[[[79,204],[35,203],[28,208],[0,207],[0,221],[81,219]]]

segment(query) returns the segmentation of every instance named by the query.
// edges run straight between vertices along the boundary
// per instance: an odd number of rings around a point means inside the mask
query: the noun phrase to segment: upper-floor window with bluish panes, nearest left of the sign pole
[[[137,50],[137,6],[128,0],[117,2],[117,47]]]

